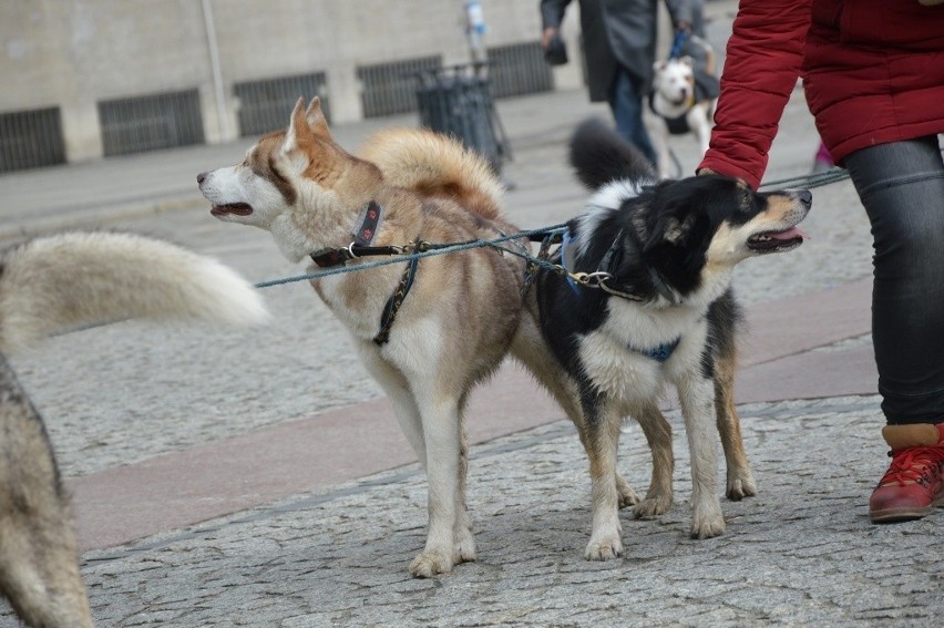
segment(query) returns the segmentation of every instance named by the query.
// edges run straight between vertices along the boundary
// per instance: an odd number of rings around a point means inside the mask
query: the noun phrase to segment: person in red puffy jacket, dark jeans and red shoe
[[[869,513],[923,517],[944,505],[944,0],[741,0],[697,172],[756,188],[799,75],[874,238],[872,338],[892,461]]]

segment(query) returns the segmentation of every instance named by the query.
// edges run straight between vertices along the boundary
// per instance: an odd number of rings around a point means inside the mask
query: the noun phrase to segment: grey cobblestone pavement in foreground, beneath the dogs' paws
[[[743,408],[759,496],[722,502],[727,533],[691,541],[676,426],[676,503],[624,513],[626,555],[587,563],[588,478],[570,423],[473,450],[479,560],[413,579],[425,486],[418,466],[86,554],[101,626],[930,626],[944,612],[928,517],[873,526],[863,495],[883,446],[874,398]],[[649,459],[627,428],[620,467]],[[868,462],[865,462],[868,461]],[[0,625],[4,625],[0,620]]]

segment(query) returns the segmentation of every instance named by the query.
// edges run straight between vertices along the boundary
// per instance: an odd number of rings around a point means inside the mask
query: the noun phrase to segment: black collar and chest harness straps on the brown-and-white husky
[[[331,248],[312,253],[311,260],[321,268],[332,266],[342,266],[351,259],[359,257],[369,257],[377,255],[400,255],[404,253],[403,247],[398,246],[370,246],[373,241],[380,220],[383,217],[383,207],[371,200],[361,212],[358,225],[360,225],[355,234],[355,239],[343,248]],[[418,240],[419,241],[419,240]],[[417,268],[420,260],[411,257],[407,261],[407,268],[403,269],[403,275],[400,276],[400,282],[397,289],[387,299],[387,305],[383,307],[383,315],[380,317],[380,331],[373,337],[373,342],[378,346],[383,346],[390,340],[390,329],[393,327],[393,321],[397,319],[397,312],[400,311],[400,306],[410,292],[413,286],[413,279],[417,275]]]

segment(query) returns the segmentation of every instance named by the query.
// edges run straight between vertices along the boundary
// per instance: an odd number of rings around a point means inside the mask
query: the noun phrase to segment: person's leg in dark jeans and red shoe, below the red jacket
[[[874,238],[872,339],[892,464],[875,522],[944,504],[944,163],[936,136],[845,158]]]

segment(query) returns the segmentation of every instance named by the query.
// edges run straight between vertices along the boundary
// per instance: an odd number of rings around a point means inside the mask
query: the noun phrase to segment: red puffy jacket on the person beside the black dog
[[[838,163],[866,146],[944,132],[944,4],[741,0],[727,54],[698,169],[757,187],[798,76]]]

